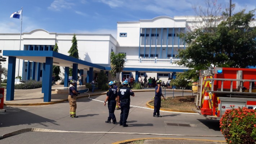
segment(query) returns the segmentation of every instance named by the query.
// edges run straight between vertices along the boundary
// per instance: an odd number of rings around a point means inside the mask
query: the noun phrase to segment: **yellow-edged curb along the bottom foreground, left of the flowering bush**
[[[167,140],[195,140],[195,141],[208,141],[208,142],[219,142],[219,143],[225,143],[225,140],[206,140],[206,139],[186,139],[186,138],[139,138],[139,139],[128,139],[123,141],[117,141],[112,144],[122,144],[122,143],[129,143],[136,140],[154,140],[154,139],[167,139]]]

